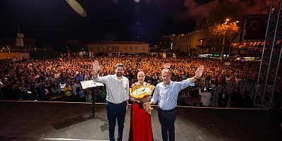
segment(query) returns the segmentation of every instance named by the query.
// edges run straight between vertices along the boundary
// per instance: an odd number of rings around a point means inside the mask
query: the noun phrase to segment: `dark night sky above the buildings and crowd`
[[[76,0],[87,16],[76,13],[66,0],[1,0],[0,38],[20,32],[37,45],[138,40],[155,44],[166,34],[195,29],[195,18],[207,16],[218,1],[209,0]],[[137,1],[137,2],[136,2]],[[232,0],[239,1],[239,0]],[[248,0],[246,13],[264,13],[270,0]]]

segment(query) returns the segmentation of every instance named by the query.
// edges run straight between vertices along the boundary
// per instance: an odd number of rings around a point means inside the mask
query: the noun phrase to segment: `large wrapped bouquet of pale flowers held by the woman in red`
[[[147,101],[147,97],[150,97],[154,90],[154,85],[146,85],[146,86],[133,86],[130,88],[130,96],[138,99],[143,103],[145,111],[151,114],[152,107]]]

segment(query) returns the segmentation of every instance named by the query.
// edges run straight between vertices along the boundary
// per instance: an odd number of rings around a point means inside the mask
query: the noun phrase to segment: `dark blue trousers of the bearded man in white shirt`
[[[114,131],[116,118],[118,119],[118,140],[123,140],[124,118],[126,113],[126,101],[121,104],[106,102],[106,116],[109,121],[109,139],[115,140]]]

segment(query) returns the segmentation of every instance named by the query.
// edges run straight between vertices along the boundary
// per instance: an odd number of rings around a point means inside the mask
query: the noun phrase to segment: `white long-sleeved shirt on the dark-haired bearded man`
[[[106,85],[106,101],[119,104],[129,99],[129,80],[122,76],[118,79],[116,75],[106,75],[93,79]]]

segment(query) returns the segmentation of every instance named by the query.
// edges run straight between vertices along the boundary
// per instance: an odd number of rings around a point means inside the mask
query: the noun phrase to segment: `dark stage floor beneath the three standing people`
[[[104,104],[102,118],[85,121],[91,104],[67,102],[0,102],[0,140],[109,140]],[[128,140],[130,108],[123,140]],[[278,115],[259,109],[178,107],[176,140],[281,140]],[[157,107],[152,111],[154,140],[161,140]],[[117,135],[117,127],[116,127]]]

